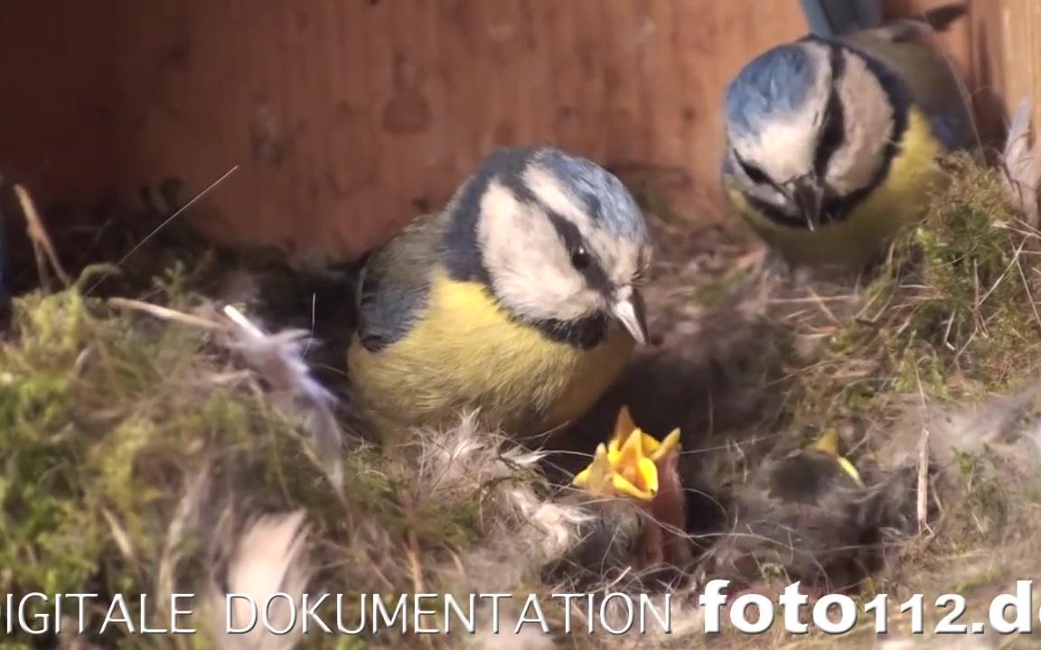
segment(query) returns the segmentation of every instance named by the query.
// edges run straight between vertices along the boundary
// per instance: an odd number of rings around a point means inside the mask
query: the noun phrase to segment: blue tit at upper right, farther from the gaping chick
[[[882,23],[879,1],[803,0],[812,33],[727,89],[725,193],[792,265],[871,262],[921,215],[938,160],[977,147],[963,86],[930,43],[965,6]]]

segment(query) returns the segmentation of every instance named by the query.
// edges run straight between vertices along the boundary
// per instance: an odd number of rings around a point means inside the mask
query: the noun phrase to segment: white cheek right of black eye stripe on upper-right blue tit
[[[842,53],[845,74],[838,86],[845,139],[828,164],[827,181],[839,193],[866,187],[884,162],[893,131],[893,106],[863,58]]]

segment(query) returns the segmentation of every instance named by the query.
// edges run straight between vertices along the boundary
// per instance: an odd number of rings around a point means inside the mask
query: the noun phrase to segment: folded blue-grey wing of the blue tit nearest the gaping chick
[[[438,215],[423,217],[370,255],[358,278],[357,333],[366,349],[402,339],[426,308],[440,224]]]

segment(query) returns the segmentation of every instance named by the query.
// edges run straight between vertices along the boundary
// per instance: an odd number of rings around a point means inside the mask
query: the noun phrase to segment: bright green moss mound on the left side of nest
[[[164,275],[150,302],[191,310],[202,298],[183,278],[177,268]],[[90,284],[17,298],[12,331],[0,340],[0,593],[149,593],[184,487],[203,467],[219,497],[251,512],[305,509],[325,561],[319,579],[332,592],[344,583],[414,591],[406,563],[377,574],[369,553],[402,558],[414,540],[431,561],[480,541],[479,487],[439,500],[359,441],[344,459],[348,489],[336,494],[304,433],[210,334],[115,312],[84,295]],[[215,516],[222,505],[207,509]],[[359,525],[381,531],[388,547],[352,547]],[[206,532],[189,529],[177,543],[186,584],[213,569]],[[105,647],[180,643],[157,640],[113,638]],[[4,640],[28,647],[21,642]],[[322,643],[308,647],[367,647]]]

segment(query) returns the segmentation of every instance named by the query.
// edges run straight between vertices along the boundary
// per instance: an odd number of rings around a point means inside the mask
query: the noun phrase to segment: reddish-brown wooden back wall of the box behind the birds
[[[1002,0],[1006,4],[1014,0]],[[1026,4],[1035,0],[1019,0]],[[911,15],[929,0],[888,2]],[[720,104],[794,0],[8,0],[0,170],[43,201],[167,175],[219,238],[354,256],[504,145],[552,142],[729,218]],[[971,71],[967,25],[946,43]],[[1035,57],[1036,58],[1036,57]]]

